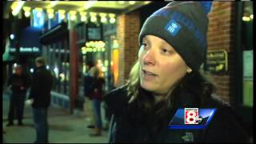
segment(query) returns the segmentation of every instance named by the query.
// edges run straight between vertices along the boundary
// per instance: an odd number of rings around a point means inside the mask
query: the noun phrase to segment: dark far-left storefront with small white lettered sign
[[[6,78],[14,73],[14,66],[18,64],[22,65],[23,73],[31,77],[35,68],[34,59],[42,54],[42,45],[38,41],[40,30],[27,26],[20,33],[20,40],[14,34],[6,39],[6,51],[3,54]]]

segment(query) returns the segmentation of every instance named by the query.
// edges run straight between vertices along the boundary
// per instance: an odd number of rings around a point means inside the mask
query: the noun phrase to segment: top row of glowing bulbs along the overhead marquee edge
[[[23,6],[22,9],[24,10],[24,14],[26,16],[26,18],[30,17],[30,11],[31,8],[28,6]],[[42,17],[42,13],[43,10],[42,8],[34,8],[34,10],[36,11],[36,15],[38,18]],[[33,10],[32,10],[33,11]],[[57,10],[58,14],[59,14],[59,18],[64,19],[66,18],[66,10]],[[47,16],[49,19],[54,18],[54,10],[53,9],[47,9],[46,10]],[[114,23],[115,20],[115,14],[106,14],[106,13],[94,13],[94,12],[84,12],[84,11],[74,11],[74,10],[70,10],[69,14],[70,14],[70,20],[74,21],[77,18],[77,13],[80,14],[80,20],[81,22],[86,22],[87,18],[88,18],[88,14],[90,15],[90,22],[96,22],[97,21],[97,16],[99,15],[101,18],[101,22],[105,23],[107,22],[107,16],[110,18],[110,23]]]

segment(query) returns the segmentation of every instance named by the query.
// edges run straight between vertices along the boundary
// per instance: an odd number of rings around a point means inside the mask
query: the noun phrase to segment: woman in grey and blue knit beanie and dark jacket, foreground
[[[113,113],[110,142],[246,142],[230,106],[198,72],[206,57],[207,4],[171,2],[146,19],[128,83],[103,98]],[[206,129],[167,129],[185,107],[217,110]]]

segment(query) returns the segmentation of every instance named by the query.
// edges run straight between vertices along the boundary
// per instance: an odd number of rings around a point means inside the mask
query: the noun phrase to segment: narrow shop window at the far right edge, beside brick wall
[[[243,2],[242,10],[242,104],[253,106],[253,2]]]

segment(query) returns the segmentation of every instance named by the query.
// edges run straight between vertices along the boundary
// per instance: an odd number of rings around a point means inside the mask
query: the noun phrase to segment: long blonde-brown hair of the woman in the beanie
[[[174,90],[170,90],[166,97],[155,102],[153,94],[140,86],[138,61],[130,70],[130,78],[127,85],[129,97],[128,114],[131,121],[137,124],[146,122],[151,118],[166,119],[166,113],[171,103],[175,105],[175,99],[183,90],[197,96],[200,101],[198,103],[201,105],[206,102],[206,99],[215,90],[215,86],[208,82],[199,71],[193,70],[190,74],[186,74],[181,81],[177,82],[174,85]]]

